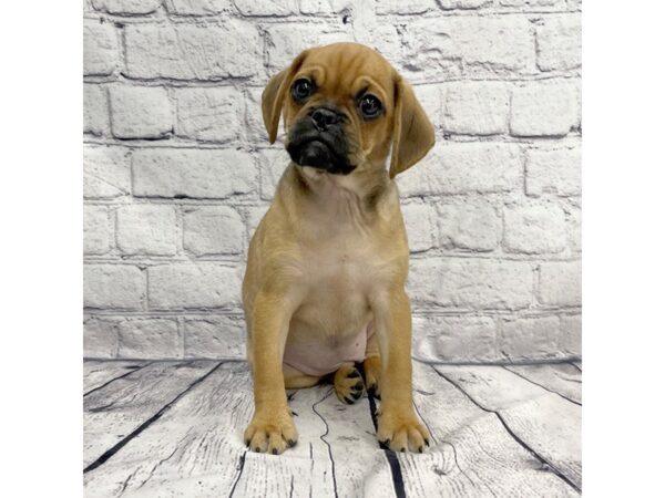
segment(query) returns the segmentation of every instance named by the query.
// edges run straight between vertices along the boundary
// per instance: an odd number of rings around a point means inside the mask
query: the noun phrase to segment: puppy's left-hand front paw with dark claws
[[[257,453],[279,455],[298,442],[298,432],[290,411],[283,408],[277,413],[263,411],[255,413],[245,429],[244,440],[249,449]]]

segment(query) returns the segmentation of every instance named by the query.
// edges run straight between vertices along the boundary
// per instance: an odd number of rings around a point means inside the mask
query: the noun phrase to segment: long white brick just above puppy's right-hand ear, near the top
[[[451,62],[463,63],[468,74],[535,70],[531,24],[516,15],[422,19],[406,25],[402,44],[400,62],[423,79],[453,75]]]

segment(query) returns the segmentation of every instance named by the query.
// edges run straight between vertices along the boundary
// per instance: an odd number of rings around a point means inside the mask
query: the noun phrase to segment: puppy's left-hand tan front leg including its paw
[[[290,314],[286,298],[278,293],[259,292],[254,301],[250,331],[254,417],[244,439],[255,452],[277,455],[298,439],[282,374]]]

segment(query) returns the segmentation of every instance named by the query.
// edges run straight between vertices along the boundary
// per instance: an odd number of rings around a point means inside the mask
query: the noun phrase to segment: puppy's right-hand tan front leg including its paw
[[[413,409],[409,298],[399,286],[377,297],[372,309],[382,363],[378,439],[395,452],[422,453],[429,433]]]

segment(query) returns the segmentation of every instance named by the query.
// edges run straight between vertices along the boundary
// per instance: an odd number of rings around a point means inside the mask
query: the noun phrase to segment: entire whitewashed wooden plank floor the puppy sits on
[[[86,497],[559,497],[582,486],[582,365],[415,362],[426,454],[379,448],[375,400],[289,391],[297,446],[248,452],[246,363],[84,364]]]

